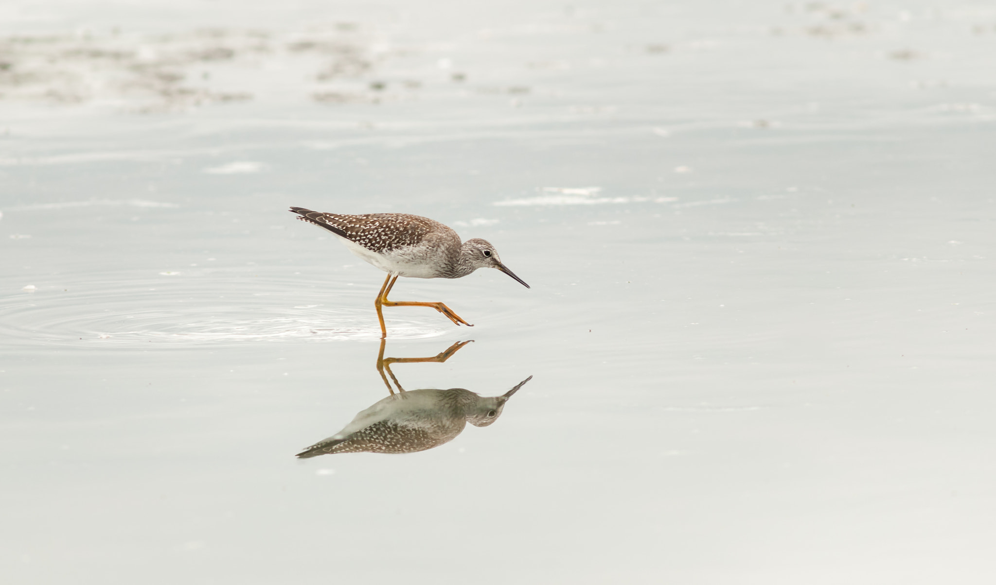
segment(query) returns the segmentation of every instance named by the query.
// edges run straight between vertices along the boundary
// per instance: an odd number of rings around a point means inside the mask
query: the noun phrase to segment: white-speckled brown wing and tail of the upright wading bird
[[[430,234],[438,237],[440,233],[450,233],[457,243],[460,241],[456,232],[445,225],[406,213],[341,215],[303,207],[292,207],[291,211],[299,215],[298,219],[321,226],[377,254],[418,245]]]

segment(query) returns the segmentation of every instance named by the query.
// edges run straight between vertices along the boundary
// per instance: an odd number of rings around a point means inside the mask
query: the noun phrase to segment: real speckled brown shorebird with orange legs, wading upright
[[[387,273],[373,305],[380,332],[387,334],[380,306],[431,306],[457,325],[470,325],[442,302],[387,300],[398,277],[414,279],[459,279],[479,268],[498,269],[527,289],[529,285],[508,270],[498,252],[486,240],[460,243],[452,229],[437,221],[404,213],[339,215],[292,207],[298,219],[321,226],[343,241],[350,252]]]

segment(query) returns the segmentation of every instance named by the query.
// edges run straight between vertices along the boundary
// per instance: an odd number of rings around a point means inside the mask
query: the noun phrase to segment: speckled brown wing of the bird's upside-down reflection
[[[342,439],[337,439],[336,437],[341,437],[337,435],[316,443],[297,457],[307,459],[326,454],[361,452],[415,453],[452,441],[463,427],[463,424],[437,427],[379,421]]]

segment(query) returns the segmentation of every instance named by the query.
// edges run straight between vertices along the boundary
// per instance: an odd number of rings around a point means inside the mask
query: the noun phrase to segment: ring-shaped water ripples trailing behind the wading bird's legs
[[[162,279],[79,278],[0,298],[0,346],[203,345],[254,341],[377,339],[380,329],[363,291],[300,281],[244,277],[163,283]],[[64,281],[65,282],[65,281]],[[10,289],[8,289],[10,290]],[[245,292],[253,291],[253,292]],[[407,315],[406,315],[407,316]],[[441,328],[388,320],[391,338],[442,335]]]

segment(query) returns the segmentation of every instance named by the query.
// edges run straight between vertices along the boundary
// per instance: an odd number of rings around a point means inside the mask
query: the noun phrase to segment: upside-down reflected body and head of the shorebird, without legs
[[[297,457],[327,453],[414,453],[448,443],[469,422],[487,427],[501,416],[505,403],[529,376],[501,396],[478,396],[463,388],[411,390],[393,394],[357,415],[332,437]]]

